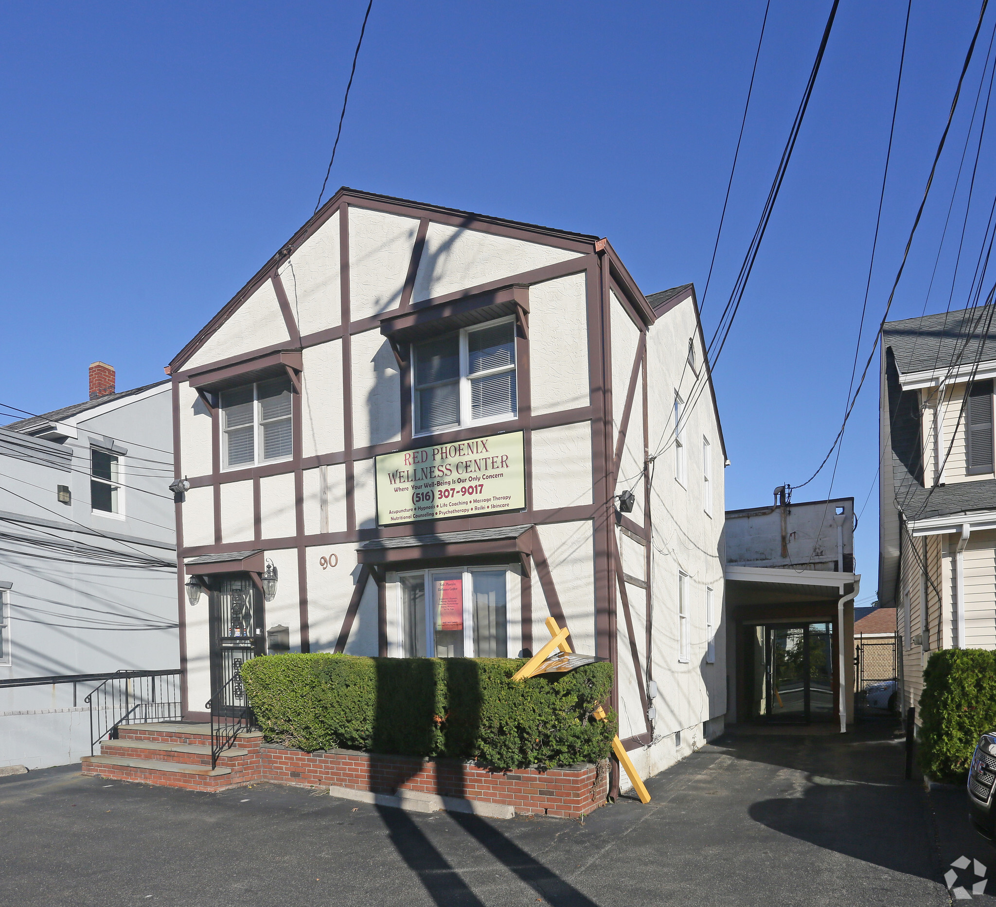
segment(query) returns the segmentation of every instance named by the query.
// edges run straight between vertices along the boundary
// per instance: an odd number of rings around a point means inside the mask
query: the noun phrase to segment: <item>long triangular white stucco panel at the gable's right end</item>
[[[444,296],[578,257],[577,252],[553,246],[429,224],[412,301]]]

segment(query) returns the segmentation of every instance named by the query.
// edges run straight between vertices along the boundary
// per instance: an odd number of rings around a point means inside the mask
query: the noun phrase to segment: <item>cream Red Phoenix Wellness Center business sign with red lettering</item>
[[[375,463],[379,526],[526,506],[521,431],[402,450]]]

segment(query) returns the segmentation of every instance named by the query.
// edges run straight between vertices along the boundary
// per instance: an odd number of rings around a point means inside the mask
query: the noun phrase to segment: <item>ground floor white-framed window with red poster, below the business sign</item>
[[[399,573],[400,651],[407,658],[507,658],[506,567]]]

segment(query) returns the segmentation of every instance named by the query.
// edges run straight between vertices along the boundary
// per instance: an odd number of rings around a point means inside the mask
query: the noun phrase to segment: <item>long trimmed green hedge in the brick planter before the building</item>
[[[524,663],[266,655],[247,661],[242,677],[266,740],[308,752],[446,756],[496,769],[605,759],[616,716],[591,716],[608,702],[612,665],[513,681]]]

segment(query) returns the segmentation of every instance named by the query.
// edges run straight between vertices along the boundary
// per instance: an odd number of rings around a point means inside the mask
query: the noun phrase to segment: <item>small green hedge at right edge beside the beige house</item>
[[[941,649],[923,671],[919,764],[936,781],[960,783],[979,735],[996,728],[996,653]]]

